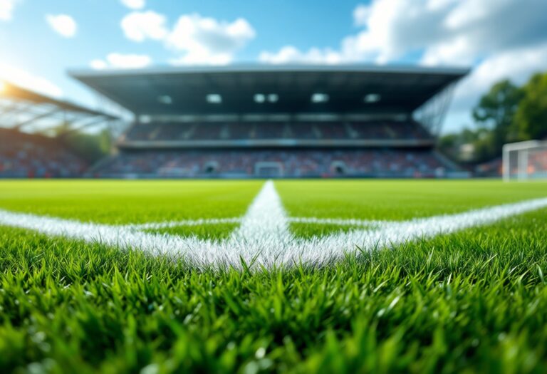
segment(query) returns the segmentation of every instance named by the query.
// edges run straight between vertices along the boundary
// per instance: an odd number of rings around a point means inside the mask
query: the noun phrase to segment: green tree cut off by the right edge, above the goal
[[[515,123],[522,140],[547,137],[547,73],[532,76],[524,85]]]

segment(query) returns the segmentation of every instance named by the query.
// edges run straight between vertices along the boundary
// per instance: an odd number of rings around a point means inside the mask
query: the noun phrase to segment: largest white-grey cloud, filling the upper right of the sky
[[[333,53],[342,62],[385,63],[424,51],[427,65],[472,64],[546,40],[546,14],[547,2],[539,0],[373,0],[353,11],[361,31],[343,38],[338,49],[311,50],[322,51],[323,63]],[[287,47],[261,53],[262,61],[277,61]],[[298,61],[308,53],[292,55]]]

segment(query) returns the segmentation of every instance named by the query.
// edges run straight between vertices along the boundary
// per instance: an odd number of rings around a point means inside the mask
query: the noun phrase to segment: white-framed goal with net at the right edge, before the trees
[[[547,179],[547,141],[504,145],[504,180]]]

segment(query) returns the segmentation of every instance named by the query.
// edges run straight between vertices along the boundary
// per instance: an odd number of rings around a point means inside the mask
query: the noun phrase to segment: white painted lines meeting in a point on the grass
[[[287,217],[281,198],[273,182],[264,184],[242,218],[197,219],[179,222],[157,222],[113,226],[83,223],[71,219],[15,213],[0,209],[0,225],[29,229],[48,236],[78,239],[90,243],[117,246],[122,249],[140,249],[151,254],[182,256],[194,266],[241,268],[241,259],[247,264],[291,266],[295,263],[322,266],[342,259],[345,254],[375,248],[384,248],[449,234],[469,227],[491,224],[517,214],[547,207],[547,198],[531,199],[514,204],[474,209],[459,214],[411,219],[406,222],[366,221],[358,219],[318,219]],[[308,224],[336,224],[360,227],[351,232],[330,234],[325,237],[302,239],[293,237],[290,222]],[[197,226],[202,224],[239,223],[229,239],[205,240],[197,237],[179,237],[145,232],[147,229]]]

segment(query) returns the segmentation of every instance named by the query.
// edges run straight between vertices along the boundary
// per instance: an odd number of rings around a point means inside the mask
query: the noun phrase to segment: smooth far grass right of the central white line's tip
[[[545,182],[325,180],[281,181],[276,188],[294,217],[411,219],[547,196]]]

